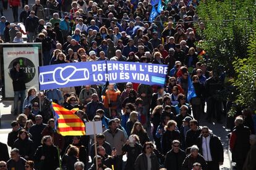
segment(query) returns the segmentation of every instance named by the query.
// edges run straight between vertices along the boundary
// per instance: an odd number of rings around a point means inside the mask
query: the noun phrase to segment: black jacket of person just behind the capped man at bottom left
[[[32,160],[33,155],[35,153],[33,141],[31,139],[17,139],[14,142],[14,148],[17,148],[20,150],[20,156],[25,158],[25,156],[28,156],[28,160]]]

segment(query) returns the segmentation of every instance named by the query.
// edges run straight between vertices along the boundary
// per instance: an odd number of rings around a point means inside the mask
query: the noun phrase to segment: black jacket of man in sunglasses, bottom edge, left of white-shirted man
[[[178,153],[174,153],[172,149],[166,154],[164,168],[167,170],[181,170],[181,165],[185,158],[186,153],[183,150],[179,149]]]

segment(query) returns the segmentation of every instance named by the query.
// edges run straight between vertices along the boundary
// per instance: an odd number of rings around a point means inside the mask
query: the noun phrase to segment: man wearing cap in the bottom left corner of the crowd
[[[7,161],[7,169],[25,170],[26,160],[20,156],[19,152],[17,148],[11,150],[11,159]]]

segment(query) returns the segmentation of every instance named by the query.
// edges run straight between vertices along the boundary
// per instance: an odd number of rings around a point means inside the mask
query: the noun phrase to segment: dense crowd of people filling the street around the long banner
[[[227,108],[221,93],[228,78],[224,70],[208,67],[200,46],[205,26],[198,18],[198,0],[164,1],[153,22],[155,5],[147,0],[27,3],[9,1],[14,22],[1,17],[1,42],[23,42],[22,34],[27,42],[41,42],[43,65],[114,60],[164,64],[168,73],[164,86],[106,83],[37,92],[26,89],[25,73],[14,62],[10,75],[17,120],[7,141],[11,158],[0,143],[0,170],[220,169],[223,145],[203,119],[223,123]],[[25,30],[17,25],[18,16]],[[190,78],[197,97],[187,100]],[[68,110],[79,108],[75,114],[84,123],[101,121],[103,134],[96,135],[96,144],[90,136],[58,134],[51,100]],[[238,170],[256,169],[255,118],[245,108],[231,129]]]

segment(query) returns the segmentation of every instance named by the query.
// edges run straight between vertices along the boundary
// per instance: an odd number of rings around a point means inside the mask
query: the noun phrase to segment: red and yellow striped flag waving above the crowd
[[[54,120],[57,127],[57,132],[62,136],[83,136],[85,135],[85,124],[75,115],[75,111],[72,109],[67,110],[60,105],[53,103]]]

